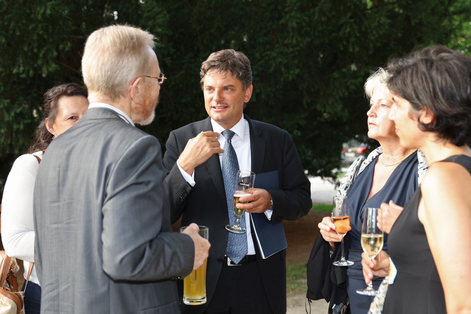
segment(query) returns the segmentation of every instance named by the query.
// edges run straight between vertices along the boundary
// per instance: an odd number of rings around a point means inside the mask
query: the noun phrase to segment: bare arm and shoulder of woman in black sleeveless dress
[[[447,313],[471,313],[471,176],[461,165],[436,163],[421,190],[419,220],[437,265]]]

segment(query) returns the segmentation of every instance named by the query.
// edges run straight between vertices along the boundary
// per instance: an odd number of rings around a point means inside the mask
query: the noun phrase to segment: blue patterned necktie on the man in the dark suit
[[[224,142],[224,154],[222,154],[222,178],[224,179],[224,189],[226,190],[227,211],[229,213],[229,225],[234,224],[234,187],[237,181],[237,171],[239,171],[239,162],[235,149],[232,146],[232,138],[235,132],[225,130],[221,132],[226,138]],[[245,214],[242,216],[240,226],[245,228]],[[227,238],[226,255],[235,263],[239,263],[247,255],[247,233],[238,234],[229,232]]]

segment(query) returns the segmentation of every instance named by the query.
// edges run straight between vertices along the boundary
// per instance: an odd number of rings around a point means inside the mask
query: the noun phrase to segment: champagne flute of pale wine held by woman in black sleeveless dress
[[[382,228],[379,228],[382,226],[381,223],[378,222],[378,216],[381,218],[381,215],[381,208],[365,208],[365,215],[363,216],[363,225],[361,228],[361,247],[370,260],[374,260],[374,258],[379,254],[384,243],[384,232],[381,230]],[[373,289],[373,283],[372,280],[370,280],[368,287],[357,290],[357,293],[364,294],[366,296],[375,296],[378,294],[378,291]]]

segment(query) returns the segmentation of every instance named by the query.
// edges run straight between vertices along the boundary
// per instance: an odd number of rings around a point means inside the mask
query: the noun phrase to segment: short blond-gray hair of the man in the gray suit
[[[126,86],[146,74],[154,35],[129,25],[112,25],[91,33],[82,57],[83,81],[89,92],[111,100],[126,95]]]

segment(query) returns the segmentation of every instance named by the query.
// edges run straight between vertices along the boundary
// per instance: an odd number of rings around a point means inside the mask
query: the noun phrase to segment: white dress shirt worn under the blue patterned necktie
[[[224,131],[225,129],[216,123],[213,119],[211,119],[212,130],[214,132],[218,132],[219,134]],[[250,128],[249,123],[247,120],[244,119],[244,116],[235,124],[231,131],[235,132],[234,137],[232,138],[232,146],[235,150],[235,155],[237,155],[237,161],[239,162],[239,169],[240,170],[251,170],[252,169],[252,155],[250,149]],[[221,148],[224,147],[224,143],[226,138],[223,135],[219,135],[217,138],[219,143],[221,144]],[[222,154],[219,153],[219,164],[221,165],[222,169]],[[193,170],[193,174],[191,176],[187,174],[185,170],[180,166],[177,160],[177,166],[180,169],[183,178],[191,185],[195,186],[195,171]],[[255,180],[257,180],[257,176],[255,176]],[[271,219],[272,210],[268,209],[265,211],[265,215],[267,215],[268,219]],[[253,247],[253,240],[251,236],[251,227],[250,227],[250,214],[245,212],[245,229],[247,230],[247,255],[255,254],[255,248]]]

